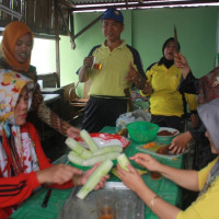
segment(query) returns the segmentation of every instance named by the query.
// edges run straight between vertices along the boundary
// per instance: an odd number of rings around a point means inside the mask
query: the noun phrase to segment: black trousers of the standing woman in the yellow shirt
[[[175,128],[180,130],[180,132],[184,132],[185,130],[184,117],[151,115],[151,123],[154,123],[160,127]]]

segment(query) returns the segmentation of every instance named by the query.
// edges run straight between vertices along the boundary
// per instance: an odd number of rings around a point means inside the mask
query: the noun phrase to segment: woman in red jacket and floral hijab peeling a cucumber
[[[26,122],[34,83],[12,70],[0,70],[0,218],[7,219],[39,185],[83,185],[96,166],[82,174],[69,165],[51,165],[36,129]]]

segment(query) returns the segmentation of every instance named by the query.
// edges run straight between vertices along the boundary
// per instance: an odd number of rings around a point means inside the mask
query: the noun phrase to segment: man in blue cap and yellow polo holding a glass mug
[[[119,115],[128,111],[131,87],[142,89],[146,82],[138,51],[120,39],[122,12],[107,9],[102,16],[102,31],[105,42],[91,49],[79,70],[80,82],[92,81],[82,122],[82,128],[89,132],[115,126]]]

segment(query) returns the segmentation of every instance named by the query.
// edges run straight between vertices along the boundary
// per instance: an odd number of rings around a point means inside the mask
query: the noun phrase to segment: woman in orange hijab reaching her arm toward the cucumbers
[[[79,129],[59,118],[43,102],[39,85],[37,84],[36,68],[31,66],[31,53],[34,36],[26,24],[14,21],[5,26],[1,42],[0,69],[13,70],[34,80],[32,110],[37,116],[55,128],[61,135],[72,137],[79,135]]]

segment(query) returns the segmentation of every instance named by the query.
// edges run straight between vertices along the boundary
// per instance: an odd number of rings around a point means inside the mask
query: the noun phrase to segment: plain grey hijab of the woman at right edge
[[[219,153],[219,97],[198,107],[198,114]],[[219,160],[215,163],[208,175],[207,182],[200,192],[205,193],[210,184],[219,176]]]

